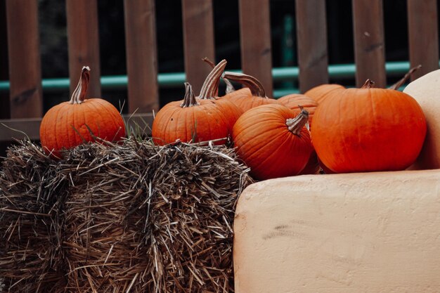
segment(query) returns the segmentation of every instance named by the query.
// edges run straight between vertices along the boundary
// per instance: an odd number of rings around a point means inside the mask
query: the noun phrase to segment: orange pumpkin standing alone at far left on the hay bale
[[[82,68],[70,101],[49,109],[41,120],[40,139],[44,151],[61,158],[61,150],[87,141],[118,141],[125,136],[119,111],[101,98],[86,99],[90,68]]]

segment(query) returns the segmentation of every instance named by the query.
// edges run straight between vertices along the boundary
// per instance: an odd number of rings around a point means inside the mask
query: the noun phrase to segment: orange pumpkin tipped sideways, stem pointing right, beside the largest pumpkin
[[[304,127],[308,117],[303,113],[293,117],[292,110],[283,105],[261,105],[235,122],[233,142],[253,178],[295,176],[306,166],[313,150],[309,131]],[[291,131],[287,122],[294,120],[295,129]]]

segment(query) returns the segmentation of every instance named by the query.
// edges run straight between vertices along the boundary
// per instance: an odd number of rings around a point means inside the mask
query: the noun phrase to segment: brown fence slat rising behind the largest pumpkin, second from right
[[[385,72],[382,0],[353,0],[356,85],[371,79],[376,87],[387,85]]]

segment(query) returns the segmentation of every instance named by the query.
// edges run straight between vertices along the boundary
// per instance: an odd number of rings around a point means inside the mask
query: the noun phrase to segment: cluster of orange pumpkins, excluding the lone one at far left
[[[321,168],[325,173],[403,170],[422,150],[424,112],[413,97],[397,90],[419,67],[389,89],[375,89],[370,80],[361,89],[323,84],[276,100],[266,96],[256,78],[224,72],[226,60],[218,65],[204,61],[213,70],[200,95],[195,97],[186,84],[183,101],[157,113],[152,131],[157,144],[232,141],[257,180],[318,174]],[[221,78],[226,94],[217,97]],[[231,82],[244,87],[235,90]],[[215,111],[205,110],[207,99]],[[223,110],[219,104],[226,101],[231,103]],[[192,114],[195,110],[199,114]]]

